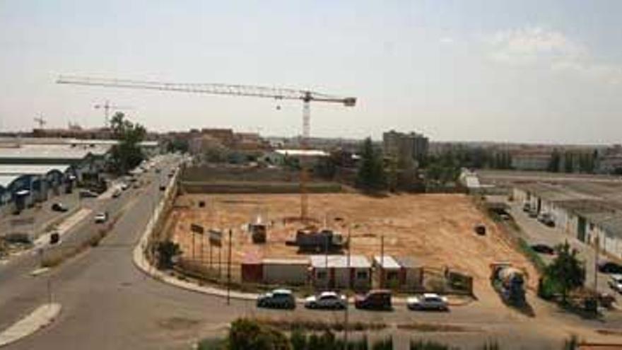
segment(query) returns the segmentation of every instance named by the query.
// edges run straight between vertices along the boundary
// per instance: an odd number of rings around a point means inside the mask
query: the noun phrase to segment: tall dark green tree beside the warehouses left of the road
[[[117,173],[124,174],[131,168],[138,166],[145,156],[140,142],[145,138],[147,131],[141,124],[134,124],[122,112],[116,112],[110,120],[112,135],[118,144],[112,146],[112,168]]]

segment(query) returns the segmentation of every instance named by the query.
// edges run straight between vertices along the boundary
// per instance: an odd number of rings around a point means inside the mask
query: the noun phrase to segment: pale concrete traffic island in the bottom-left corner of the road
[[[47,327],[57,319],[61,308],[59,303],[40,305],[32,313],[0,332],[0,347],[17,342]]]

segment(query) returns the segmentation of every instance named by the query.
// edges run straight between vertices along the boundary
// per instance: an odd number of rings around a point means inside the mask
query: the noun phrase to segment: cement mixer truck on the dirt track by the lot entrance
[[[525,274],[509,262],[491,264],[491,284],[505,303],[521,306],[525,303]]]

